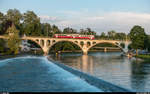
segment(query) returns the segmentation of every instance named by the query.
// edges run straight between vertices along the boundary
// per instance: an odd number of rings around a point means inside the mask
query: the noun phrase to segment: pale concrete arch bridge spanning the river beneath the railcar
[[[0,38],[7,39],[5,36],[0,36]],[[100,43],[110,43],[118,46],[123,52],[128,52],[128,45],[131,43],[130,41],[119,41],[119,40],[87,40],[87,39],[62,39],[62,38],[45,38],[45,37],[22,37],[22,40],[31,40],[37,43],[43,50],[44,54],[47,55],[49,53],[50,48],[58,42],[72,42],[80,47],[83,51],[83,54],[88,54],[90,48],[96,46]],[[125,48],[120,46],[121,43],[125,44]]]

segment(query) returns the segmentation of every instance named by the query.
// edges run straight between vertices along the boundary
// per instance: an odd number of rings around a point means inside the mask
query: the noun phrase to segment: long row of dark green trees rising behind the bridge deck
[[[96,34],[91,28],[77,31],[76,29],[67,27],[60,30],[56,25],[41,23],[40,18],[33,11],[21,14],[17,9],[9,9],[6,15],[0,12],[0,35],[5,34],[12,23],[19,30],[20,36],[26,34],[27,36],[53,37],[54,34],[86,34],[95,35],[97,39],[126,39],[125,33],[117,33],[114,30],[108,31],[108,33],[102,32],[101,35]]]

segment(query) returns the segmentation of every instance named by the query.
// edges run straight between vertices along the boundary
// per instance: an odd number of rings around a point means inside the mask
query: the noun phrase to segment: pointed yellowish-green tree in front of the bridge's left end
[[[20,45],[20,39],[19,39],[19,31],[16,29],[15,25],[12,24],[11,27],[7,30],[7,45],[10,49],[8,51],[8,54],[18,54],[19,53],[19,45]]]

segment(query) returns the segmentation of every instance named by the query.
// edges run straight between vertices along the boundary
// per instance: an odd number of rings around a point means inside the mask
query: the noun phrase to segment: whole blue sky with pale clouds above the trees
[[[115,30],[129,33],[134,25],[150,34],[150,0],[0,0],[0,12],[34,11],[60,29],[91,28],[98,34]]]

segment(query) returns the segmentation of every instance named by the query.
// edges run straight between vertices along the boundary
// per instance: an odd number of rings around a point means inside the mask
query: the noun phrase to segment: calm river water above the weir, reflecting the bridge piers
[[[120,52],[65,53],[51,58],[113,84],[150,92],[150,62],[122,57]]]

